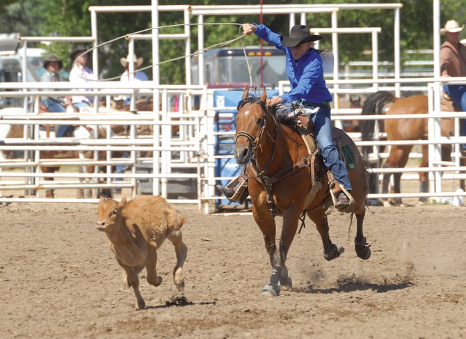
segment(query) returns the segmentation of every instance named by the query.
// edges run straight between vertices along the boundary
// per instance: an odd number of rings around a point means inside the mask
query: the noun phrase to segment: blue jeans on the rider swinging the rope
[[[323,157],[323,163],[333,174],[339,184],[343,184],[347,191],[351,191],[351,182],[348,171],[332,138],[332,120],[330,120],[330,107],[316,107],[316,113],[310,114],[314,123],[314,136],[316,136],[317,147]]]

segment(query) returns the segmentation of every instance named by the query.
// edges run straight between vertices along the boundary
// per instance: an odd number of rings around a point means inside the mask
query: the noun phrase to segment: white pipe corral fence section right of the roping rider
[[[355,140],[358,146],[372,146],[373,152],[371,152],[369,161],[373,161],[378,164],[382,164],[382,161],[387,158],[388,150],[385,152],[380,151],[380,146],[390,145],[428,145],[428,167],[412,167],[412,168],[373,168],[373,173],[403,173],[402,179],[404,180],[419,180],[419,172],[429,173],[430,189],[429,193],[405,193],[405,194],[369,194],[369,198],[420,198],[420,197],[433,197],[434,200],[441,201],[438,199],[441,197],[449,196],[466,196],[466,193],[458,192],[456,190],[448,191],[442,187],[442,180],[465,180],[466,179],[466,167],[460,166],[460,145],[466,143],[466,136],[460,136],[460,118],[466,118],[466,112],[450,112],[442,111],[440,109],[440,98],[442,97],[442,85],[443,84],[465,84],[466,77],[463,78],[409,78],[409,79],[371,79],[369,84],[367,79],[347,79],[347,80],[328,80],[327,84],[332,94],[340,93],[360,93],[369,94],[374,92],[373,84],[378,85],[378,90],[389,90],[394,91],[395,87],[392,86],[394,83],[401,84],[401,88],[405,93],[409,93],[410,90],[414,90],[417,93],[419,88],[411,88],[409,84],[425,84],[424,93],[428,95],[428,113],[427,114],[415,114],[410,115],[408,118],[412,119],[428,119],[428,140],[405,140],[405,141],[383,141],[383,134],[376,132],[374,141],[360,141],[360,133],[350,133],[350,136]],[[348,90],[342,88],[343,85],[351,84],[359,86],[358,89]],[[408,86],[403,86],[408,85]],[[289,90],[289,84],[287,81],[280,82],[279,91]],[[409,94],[408,94],[409,95]],[[405,119],[406,115],[370,115],[361,116],[361,109],[332,109],[332,120],[335,125],[341,126],[342,120],[387,120],[387,119]],[[440,118],[454,118],[455,127],[453,136],[442,136],[440,134]],[[451,145],[451,161],[442,161],[441,145]],[[385,148],[387,149],[387,148]],[[419,158],[421,155],[416,152],[412,152],[410,157]]]

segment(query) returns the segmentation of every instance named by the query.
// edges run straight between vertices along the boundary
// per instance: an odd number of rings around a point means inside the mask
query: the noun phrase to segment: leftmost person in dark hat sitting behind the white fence
[[[44,64],[45,73],[42,74],[40,81],[42,82],[60,82],[60,74],[58,71],[63,68],[63,61],[55,54],[50,54],[45,58]],[[66,97],[43,97],[41,104],[44,105],[45,109],[49,112],[66,112],[65,107],[70,102]],[[58,131],[56,131],[57,137],[69,136],[72,132],[72,126],[60,125]]]

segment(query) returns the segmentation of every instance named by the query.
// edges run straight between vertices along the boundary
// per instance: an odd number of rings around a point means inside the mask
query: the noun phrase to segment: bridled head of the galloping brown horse
[[[266,126],[266,99],[265,88],[262,95],[250,97],[249,90],[243,92],[243,100],[238,104],[236,114],[236,136],[234,136],[234,159],[238,164],[247,164],[255,152],[257,143],[264,134]]]

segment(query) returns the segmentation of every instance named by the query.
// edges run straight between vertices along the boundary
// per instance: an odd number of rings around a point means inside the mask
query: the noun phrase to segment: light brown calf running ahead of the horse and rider
[[[145,267],[148,283],[154,286],[162,283],[156,272],[156,250],[166,238],[175,246],[177,255],[173,281],[179,291],[184,290],[183,264],[188,249],[183,243],[181,227],[185,219],[161,196],[137,196],[128,202],[122,196],[120,203],[110,198],[100,199],[96,228],[109,237],[109,247],[124,269],[123,288],[131,286],[136,294],[136,310],[145,308],[138,273]]]

